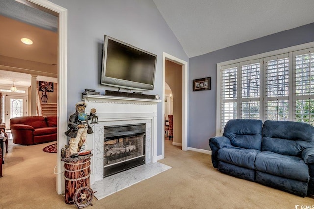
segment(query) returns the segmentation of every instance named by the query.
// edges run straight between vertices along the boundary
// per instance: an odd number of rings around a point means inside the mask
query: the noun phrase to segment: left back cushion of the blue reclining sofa
[[[228,137],[233,146],[261,150],[262,121],[253,119],[229,120],[223,136]]]

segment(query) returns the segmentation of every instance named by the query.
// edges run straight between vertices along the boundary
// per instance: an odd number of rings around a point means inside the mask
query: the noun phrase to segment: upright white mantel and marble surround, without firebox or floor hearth
[[[88,148],[92,150],[91,184],[103,179],[104,126],[146,124],[145,163],[157,162],[157,104],[161,100],[138,99],[102,95],[83,95],[86,113],[96,109],[98,124],[91,124],[94,133],[87,135]]]

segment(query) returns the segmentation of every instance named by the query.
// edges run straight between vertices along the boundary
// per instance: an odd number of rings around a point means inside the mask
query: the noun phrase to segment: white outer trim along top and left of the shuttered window
[[[270,52],[265,52],[262,54],[257,54],[257,55],[252,55],[249,57],[244,57],[244,58],[239,58],[239,59],[235,59],[235,60],[229,60],[229,61],[225,61],[225,62],[220,62],[217,63],[217,68],[216,68],[216,75],[217,75],[217,85],[216,85],[216,136],[220,136],[222,134],[222,130],[220,129],[220,121],[221,121],[221,114],[220,114],[220,96],[221,96],[221,82],[220,82],[220,68],[222,66],[225,65],[231,65],[231,64],[235,64],[235,63],[240,63],[240,62],[246,62],[246,61],[250,61],[250,60],[257,60],[257,59],[261,59],[261,58],[265,58],[265,57],[271,57],[271,56],[276,56],[276,55],[280,55],[280,54],[285,54],[285,53],[290,53],[290,52],[294,52],[294,51],[299,51],[299,50],[305,50],[308,48],[313,48],[314,47],[314,42],[309,42],[309,43],[305,43],[305,44],[300,44],[300,45],[296,45],[296,46],[292,46],[292,47],[287,47],[284,49],[279,49],[279,50],[275,50],[275,51],[270,51]],[[290,70],[290,72],[292,72],[292,70]],[[238,81],[239,83],[239,81]],[[292,92],[289,91],[289,92]],[[292,108],[289,108],[289,110],[291,110]]]

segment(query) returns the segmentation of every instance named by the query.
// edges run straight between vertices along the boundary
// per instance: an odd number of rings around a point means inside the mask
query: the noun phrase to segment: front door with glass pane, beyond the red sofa
[[[10,127],[10,119],[27,115],[27,96],[3,96],[4,118],[6,128]]]

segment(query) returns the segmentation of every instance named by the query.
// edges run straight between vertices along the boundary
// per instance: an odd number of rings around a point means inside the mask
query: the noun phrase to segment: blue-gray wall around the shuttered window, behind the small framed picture
[[[188,146],[209,148],[216,135],[216,64],[314,41],[314,23],[190,58]],[[211,90],[195,91],[192,80],[211,77]]]

